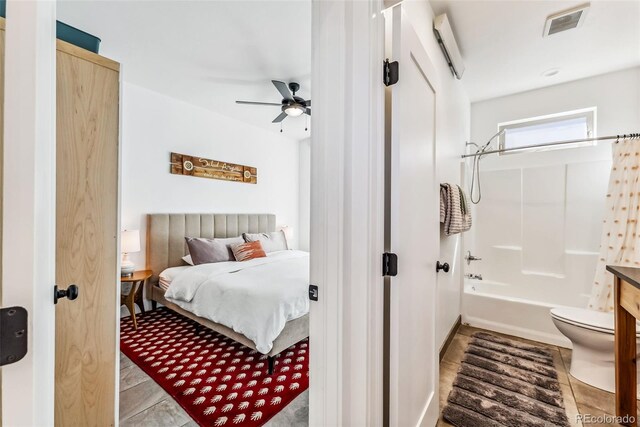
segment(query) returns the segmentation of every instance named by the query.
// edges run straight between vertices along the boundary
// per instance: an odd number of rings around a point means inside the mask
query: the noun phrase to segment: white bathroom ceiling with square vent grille
[[[592,0],[582,27],[542,37],[547,16],[584,3],[431,1],[449,16],[472,102],[640,65],[638,0]],[[541,75],[552,68],[560,72]]]

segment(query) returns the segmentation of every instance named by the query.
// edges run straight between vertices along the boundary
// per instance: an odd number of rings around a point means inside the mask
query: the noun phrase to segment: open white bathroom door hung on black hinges
[[[390,15],[391,86],[388,242],[398,255],[389,292],[389,425],[434,426],[438,419],[435,340],[439,204],[435,174],[435,71],[410,22]],[[389,26],[387,26],[389,28]],[[389,99],[388,98],[388,99]]]

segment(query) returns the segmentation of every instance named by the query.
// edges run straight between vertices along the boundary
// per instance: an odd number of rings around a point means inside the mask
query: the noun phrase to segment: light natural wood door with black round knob
[[[115,424],[119,66],[58,41],[55,424]]]

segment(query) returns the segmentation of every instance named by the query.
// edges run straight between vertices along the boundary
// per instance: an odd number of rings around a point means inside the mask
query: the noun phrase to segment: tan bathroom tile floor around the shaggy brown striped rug
[[[449,349],[440,362],[440,409],[444,408],[447,402],[447,396],[451,391],[453,380],[460,367],[460,361],[469,342],[471,334],[482,329],[471,326],[462,325],[453,338]],[[615,400],[613,393],[602,391],[595,387],[591,387],[583,382],[578,381],[569,375],[569,367],[571,366],[571,350],[557,347],[554,345],[543,344],[523,338],[512,337],[499,334],[493,331],[487,331],[496,335],[503,335],[518,341],[528,342],[549,348],[554,354],[556,369],[562,392],[564,395],[564,404],[567,415],[572,426],[582,426],[583,423],[577,419],[578,414],[589,414],[594,417],[613,416],[615,413]],[[612,426],[618,424],[597,424],[584,423],[584,426]],[[451,426],[442,416],[438,421],[438,427]]]

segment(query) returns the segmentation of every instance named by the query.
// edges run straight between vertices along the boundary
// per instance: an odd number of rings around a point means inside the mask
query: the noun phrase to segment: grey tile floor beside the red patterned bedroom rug
[[[197,426],[162,387],[122,353],[120,353],[120,425],[122,427]],[[266,427],[308,425],[308,390],[265,424]]]

